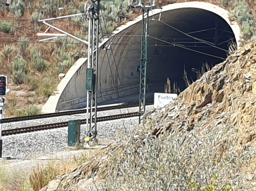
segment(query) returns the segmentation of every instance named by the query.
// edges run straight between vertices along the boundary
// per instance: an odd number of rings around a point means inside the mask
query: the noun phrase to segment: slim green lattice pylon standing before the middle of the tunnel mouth
[[[152,9],[162,9],[156,7],[155,0],[151,1],[151,5],[143,5],[141,0],[138,5],[131,5],[128,1],[128,8],[143,10],[143,19],[141,25],[141,56],[140,56],[140,96],[139,96],[139,123],[141,116],[146,112],[146,87],[147,87],[147,64],[148,60],[148,44],[149,44],[149,11]]]

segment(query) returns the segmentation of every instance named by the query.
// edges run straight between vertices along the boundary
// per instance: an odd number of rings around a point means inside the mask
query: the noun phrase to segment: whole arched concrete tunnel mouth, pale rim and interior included
[[[99,104],[132,103],[139,100],[141,18],[139,16],[117,28],[111,38],[105,39],[100,45]],[[186,2],[150,11],[149,35],[147,95],[152,98],[153,92],[164,91],[167,77],[172,82],[178,82],[183,90],[184,69],[192,76],[191,68],[198,69],[205,62],[209,65],[220,63],[226,58],[225,50],[231,39],[239,46],[240,28],[236,23],[230,23],[225,9],[211,3]],[[204,40],[203,43],[197,38]],[[59,96],[52,96],[48,100],[44,112],[49,112],[47,108],[53,106],[53,102],[56,102],[55,110],[59,111],[86,106],[85,68],[82,65],[76,66],[76,75],[70,80],[65,79],[68,81],[65,87],[64,83],[62,87],[58,86]],[[74,69],[70,70],[74,72]],[[195,80],[193,77],[191,79]]]

